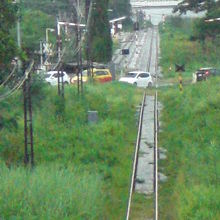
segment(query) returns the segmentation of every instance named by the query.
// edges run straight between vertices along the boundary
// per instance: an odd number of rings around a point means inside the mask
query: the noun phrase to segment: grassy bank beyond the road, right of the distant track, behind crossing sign
[[[164,27],[160,25],[160,66],[166,80],[178,81],[175,64],[185,64],[186,71],[182,74],[185,81],[191,81],[192,73],[201,67],[220,68],[219,42],[210,39],[204,42],[191,40],[194,25],[195,20],[178,17],[167,18]]]

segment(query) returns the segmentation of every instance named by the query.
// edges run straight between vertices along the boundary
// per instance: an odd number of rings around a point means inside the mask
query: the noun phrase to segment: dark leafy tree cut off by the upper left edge
[[[9,69],[12,59],[17,55],[15,40],[10,29],[15,25],[16,7],[11,0],[1,0],[0,4],[0,81]]]

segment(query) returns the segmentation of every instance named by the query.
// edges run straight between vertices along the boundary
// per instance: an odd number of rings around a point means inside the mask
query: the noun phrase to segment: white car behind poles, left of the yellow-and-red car
[[[60,80],[63,76],[63,83],[70,84],[70,77],[67,75],[66,72],[60,71]],[[52,86],[56,86],[58,84],[58,71],[49,71],[44,74],[45,80]]]

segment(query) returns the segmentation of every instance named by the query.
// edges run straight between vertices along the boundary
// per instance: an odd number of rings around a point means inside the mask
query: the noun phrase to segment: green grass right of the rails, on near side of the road
[[[220,219],[219,78],[162,90],[160,146],[168,159],[160,168],[168,181],[160,186],[160,218]]]

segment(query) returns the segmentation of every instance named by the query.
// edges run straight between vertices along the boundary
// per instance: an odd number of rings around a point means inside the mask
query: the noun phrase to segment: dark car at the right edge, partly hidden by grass
[[[210,76],[220,76],[220,70],[212,67],[200,68],[193,73],[193,82],[206,80]]]

